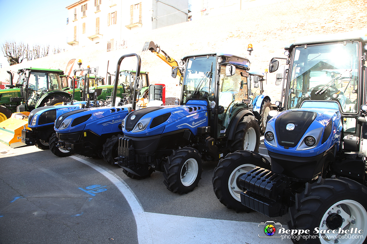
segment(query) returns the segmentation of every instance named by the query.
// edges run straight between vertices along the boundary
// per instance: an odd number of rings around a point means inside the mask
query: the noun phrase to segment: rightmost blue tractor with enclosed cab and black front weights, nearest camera
[[[233,189],[245,209],[268,217],[289,212],[294,243],[362,244],[367,38],[348,33],[328,38],[285,48],[284,103],[278,102],[264,135],[271,162],[239,151],[221,160],[216,171],[226,175],[222,192]],[[270,73],[278,69],[278,59],[270,61]],[[221,175],[214,175],[214,185],[215,177]],[[302,232],[308,234],[295,234]]]

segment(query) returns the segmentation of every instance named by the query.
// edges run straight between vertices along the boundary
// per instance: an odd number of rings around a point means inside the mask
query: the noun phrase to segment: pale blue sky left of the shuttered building
[[[76,0],[0,0],[0,45],[5,41],[50,45],[52,49],[66,45],[66,6]],[[52,52],[51,52],[52,53]],[[8,66],[0,49],[0,63]]]

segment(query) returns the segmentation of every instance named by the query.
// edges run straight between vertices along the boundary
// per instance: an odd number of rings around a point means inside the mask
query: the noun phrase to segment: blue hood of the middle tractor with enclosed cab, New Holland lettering
[[[208,103],[191,100],[181,106],[148,107],[131,112],[121,124],[129,137],[154,136],[181,129],[194,135],[197,127],[208,126]]]

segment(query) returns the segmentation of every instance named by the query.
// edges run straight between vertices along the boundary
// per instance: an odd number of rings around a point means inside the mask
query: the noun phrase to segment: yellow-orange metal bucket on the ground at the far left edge
[[[22,129],[28,128],[29,112],[18,112],[11,115],[10,118],[0,123],[0,142],[12,147],[21,147]],[[18,139],[19,137],[19,139]]]

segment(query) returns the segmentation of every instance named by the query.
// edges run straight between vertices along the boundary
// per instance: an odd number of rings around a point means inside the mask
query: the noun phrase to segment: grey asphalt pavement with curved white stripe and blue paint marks
[[[259,153],[266,152],[262,140]],[[103,159],[0,144],[0,244],[291,243],[259,238],[261,223],[286,227],[288,215],[236,213],[219,202],[215,166],[204,162],[198,187],[178,195],[160,172],[134,180]]]

